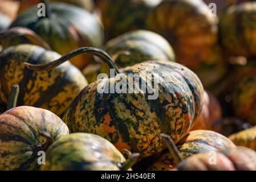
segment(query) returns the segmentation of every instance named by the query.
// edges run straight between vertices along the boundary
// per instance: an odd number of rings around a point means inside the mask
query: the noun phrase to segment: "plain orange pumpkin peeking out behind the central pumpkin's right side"
[[[204,92],[204,105],[191,130],[213,130],[214,123],[222,118],[221,105],[210,92]]]

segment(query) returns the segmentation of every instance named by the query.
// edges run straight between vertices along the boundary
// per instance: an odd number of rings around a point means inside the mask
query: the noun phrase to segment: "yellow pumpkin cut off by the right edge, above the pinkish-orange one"
[[[229,136],[229,139],[234,142],[236,146],[243,146],[250,148],[256,137],[256,127],[247,130],[239,131]]]

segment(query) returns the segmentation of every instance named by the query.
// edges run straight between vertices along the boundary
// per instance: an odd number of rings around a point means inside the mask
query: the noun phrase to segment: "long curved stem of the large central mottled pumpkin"
[[[33,65],[33,64],[29,64],[29,63],[24,63],[24,65],[27,68],[32,69],[34,71],[49,71],[52,68],[58,67],[60,64],[66,62],[66,61],[72,59],[73,57],[80,55],[82,53],[93,53],[94,55],[100,57],[100,59],[102,59],[108,65],[108,67],[110,69],[115,69],[115,75],[120,73],[118,68],[116,67],[116,64],[111,59],[111,57],[103,50],[94,48],[94,47],[82,47],[82,48],[76,49],[76,50],[71,51],[70,53],[67,53],[66,55],[60,57],[57,60],[52,61],[51,63],[41,64],[41,65]]]

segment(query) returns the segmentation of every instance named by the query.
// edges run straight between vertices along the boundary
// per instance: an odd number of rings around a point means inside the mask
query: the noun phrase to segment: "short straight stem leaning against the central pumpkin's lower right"
[[[180,151],[178,151],[178,148],[174,144],[172,138],[170,138],[170,136],[166,134],[161,134],[161,137],[164,138],[166,145],[170,151],[170,154],[173,156],[174,163],[180,163],[183,159],[180,155]]]

